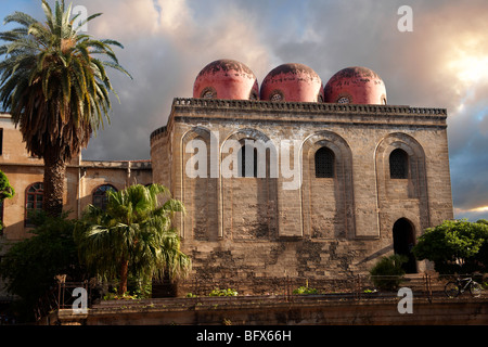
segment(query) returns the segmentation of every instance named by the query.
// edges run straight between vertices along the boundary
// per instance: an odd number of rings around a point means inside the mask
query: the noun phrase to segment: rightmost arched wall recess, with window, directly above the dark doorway
[[[401,150],[407,154],[404,177],[391,175],[391,153]],[[398,151],[397,151],[398,153]],[[391,216],[398,211],[416,216],[421,230],[429,226],[428,191],[425,166],[425,152],[410,134],[389,133],[380,141],[375,152],[377,206],[384,232]]]

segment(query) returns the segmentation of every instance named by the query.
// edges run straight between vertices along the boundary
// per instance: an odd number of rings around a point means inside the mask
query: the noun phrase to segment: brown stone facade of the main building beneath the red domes
[[[175,99],[151,136],[153,181],[187,207],[176,224],[192,278],[349,277],[453,218],[446,119],[441,108]],[[269,145],[257,162],[267,175],[226,178],[228,143],[245,139]],[[333,177],[316,177],[321,147]],[[396,149],[406,178],[390,176]]]

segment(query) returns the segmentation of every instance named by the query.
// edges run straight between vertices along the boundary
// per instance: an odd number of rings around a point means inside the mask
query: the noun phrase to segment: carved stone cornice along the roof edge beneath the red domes
[[[243,111],[247,113],[243,115]],[[177,113],[179,113],[178,116],[176,116]],[[441,128],[446,127],[447,119],[446,108],[434,107],[176,98],[172,102],[168,124],[151,133],[151,142],[167,134],[175,117],[181,120],[187,118],[195,118],[196,120],[207,117],[229,119],[229,114],[233,116],[232,121],[244,120],[244,118],[258,120],[259,118],[260,121],[325,121],[328,124],[347,123],[350,125],[381,125],[384,123],[385,125],[440,126]],[[280,115],[280,118],[275,117],[277,114]],[[256,118],[256,115],[258,115],[258,118]],[[384,118],[373,121],[372,117]],[[394,120],[394,118],[397,119]],[[408,120],[403,121],[398,118]]]

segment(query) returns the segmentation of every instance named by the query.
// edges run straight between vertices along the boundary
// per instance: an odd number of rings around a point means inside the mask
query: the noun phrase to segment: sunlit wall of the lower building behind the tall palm
[[[25,150],[21,132],[15,129],[10,115],[0,115],[1,154],[0,170],[15,189],[13,198],[3,202],[3,235],[0,243],[18,241],[29,235],[26,226],[26,190],[43,180],[43,160],[30,156]],[[67,165],[65,179],[64,210],[80,217],[88,204],[93,202],[93,193],[110,184],[121,190],[133,183],[152,183],[150,160],[84,160],[81,155]]]

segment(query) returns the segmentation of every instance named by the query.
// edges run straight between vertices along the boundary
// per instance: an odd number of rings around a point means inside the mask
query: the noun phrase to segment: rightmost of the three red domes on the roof
[[[331,103],[386,104],[386,88],[380,76],[361,66],[336,73],[324,88],[324,100]]]

